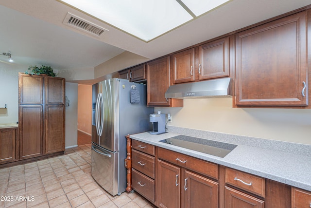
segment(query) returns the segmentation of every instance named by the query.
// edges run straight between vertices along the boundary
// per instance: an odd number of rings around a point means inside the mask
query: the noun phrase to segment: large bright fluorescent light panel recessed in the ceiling
[[[176,0],[62,0],[97,19],[150,41],[193,17]],[[228,0],[181,0],[196,15]]]

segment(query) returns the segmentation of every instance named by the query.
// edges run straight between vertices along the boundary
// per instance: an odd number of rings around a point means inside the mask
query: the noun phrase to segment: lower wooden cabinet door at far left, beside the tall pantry
[[[0,164],[15,160],[16,129],[0,129]]]

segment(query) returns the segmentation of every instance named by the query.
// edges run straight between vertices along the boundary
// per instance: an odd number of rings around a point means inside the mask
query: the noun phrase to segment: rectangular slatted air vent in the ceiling
[[[85,31],[89,34],[95,35],[99,37],[102,35],[105,31],[108,31],[102,27],[99,27],[96,24],[93,24],[91,22],[86,21],[85,19],[79,18],[77,16],[74,16],[70,14],[69,12],[67,13],[63,24],[69,25],[71,27],[74,27],[76,29]]]

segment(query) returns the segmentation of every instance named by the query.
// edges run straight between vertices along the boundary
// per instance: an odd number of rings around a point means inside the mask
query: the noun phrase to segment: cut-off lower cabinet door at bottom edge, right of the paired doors
[[[225,187],[225,208],[264,208],[264,201]]]

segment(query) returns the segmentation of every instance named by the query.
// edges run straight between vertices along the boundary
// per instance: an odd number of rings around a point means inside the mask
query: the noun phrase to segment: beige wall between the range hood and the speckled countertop
[[[311,109],[232,108],[232,98],[184,99],[169,125],[311,145]]]

